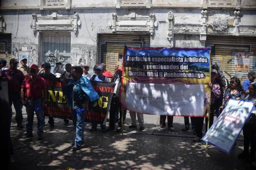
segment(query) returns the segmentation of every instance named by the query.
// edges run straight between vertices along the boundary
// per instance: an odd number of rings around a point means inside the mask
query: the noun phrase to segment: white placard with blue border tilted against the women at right
[[[252,101],[230,99],[201,140],[230,153],[252,109]]]

